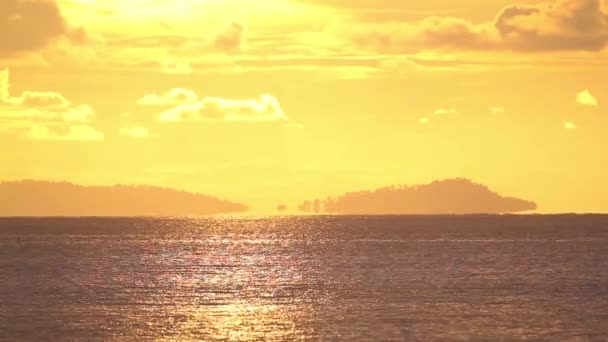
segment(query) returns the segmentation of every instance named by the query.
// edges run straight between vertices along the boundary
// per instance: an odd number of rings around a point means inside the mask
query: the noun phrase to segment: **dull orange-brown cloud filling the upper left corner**
[[[42,49],[60,37],[82,42],[86,34],[68,25],[55,1],[0,1],[0,58]]]

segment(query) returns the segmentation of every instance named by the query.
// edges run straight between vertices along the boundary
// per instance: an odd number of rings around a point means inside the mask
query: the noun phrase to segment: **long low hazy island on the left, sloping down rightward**
[[[154,186],[0,183],[0,216],[201,216],[246,210],[212,196]]]

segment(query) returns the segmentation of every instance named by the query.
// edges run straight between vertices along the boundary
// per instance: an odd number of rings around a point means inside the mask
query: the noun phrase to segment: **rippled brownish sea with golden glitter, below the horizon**
[[[608,216],[0,219],[0,340],[608,341]]]

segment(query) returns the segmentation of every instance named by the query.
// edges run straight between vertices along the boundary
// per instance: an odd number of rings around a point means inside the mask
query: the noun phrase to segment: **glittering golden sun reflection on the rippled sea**
[[[296,260],[302,257],[298,240],[275,239],[264,232],[217,233],[199,240],[160,242],[159,249],[167,253],[151,255],[150,262],[166,271],[157,279],[168,289],[155,294],[159,302],[181,296],[167,312],[171,328],[156,339],[304,339],[307,332],[302,330],[302,320],[314,310],[302,296],[310,275],[302,261]],[[163,257],[159,259],[159,255]]]

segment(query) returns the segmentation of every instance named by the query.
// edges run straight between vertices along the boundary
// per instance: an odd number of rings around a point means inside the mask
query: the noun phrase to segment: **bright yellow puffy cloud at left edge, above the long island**
[[[88,124],[95,112],[86,104],[72,104],[52,91],[24,91],[10,94],[8,69],[0,71],[0,119],[3,130],[26,130],[34,140],[102,140],[103,133]]]

